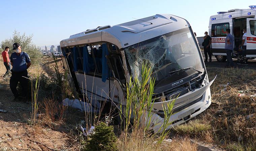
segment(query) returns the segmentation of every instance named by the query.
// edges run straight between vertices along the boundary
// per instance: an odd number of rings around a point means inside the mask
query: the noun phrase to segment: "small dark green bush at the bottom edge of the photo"
[[[87,140],[85,151],[117,151],[117,137],[113,132],[113,126],[100,122]]]

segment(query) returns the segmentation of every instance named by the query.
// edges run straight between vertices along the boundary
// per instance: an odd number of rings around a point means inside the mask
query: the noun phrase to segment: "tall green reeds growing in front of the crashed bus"
[[[124,121],[124,135],[128,137],[130,130],[132,133],[141,133],[144,138],[153,137],[150,133],[153,129],[153,125],[159,123],[152,123],[153,117],[153,104],[154,104],[154,86],[155,78],[152,75],[152,68],[150,64],[143,63],[141,66],[141,77],[138,78],[134,75],[134,78],[130,78],[129,84],[127,84],[126,105],[120,110],[120,117],[125,117]],[[160,129],[154,136],[158,136],[157,144],[161,144],[167,134],[170,132],[170,117],[172,115],[172,108],[175,99],[169,102],[162,100],[164,119]],[[167,130],[167,131],[166,131]]]

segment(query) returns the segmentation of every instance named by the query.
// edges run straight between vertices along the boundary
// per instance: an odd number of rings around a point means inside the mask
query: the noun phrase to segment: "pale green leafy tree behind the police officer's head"
[[[42,53],[32,42],[33,35],[26,36],[25,33],[20,35],[16,30],[13,32],[13,35],[9,39],[5,39],[1,42],[0,47],[4,50],[6,46],[10,48],[9,55],[13,52],[12,45],[14,43],[19,43],[21,45],[22,51],[26,52],[31,62],[35,65],[39,64],[42,58]]]

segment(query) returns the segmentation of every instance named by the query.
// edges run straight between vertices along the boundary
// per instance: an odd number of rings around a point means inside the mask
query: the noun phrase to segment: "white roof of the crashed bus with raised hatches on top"
[[[190,24],[181,17],[156,14],[115,26],[107,25],[71,35],[68,39],[62,40],[60,46],[67,47],[104,41],[115,44],[119,48],[125,48],[186,27],[190,27]]]

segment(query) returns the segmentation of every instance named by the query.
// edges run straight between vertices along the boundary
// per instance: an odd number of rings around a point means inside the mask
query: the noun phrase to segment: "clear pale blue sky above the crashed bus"
[[[56,45],[87,29],[172,14],[187,19],[197,37],[208,31],[211,15],[230,9],[247,9],[242,0],[0,0],[0,42],[14,30],[33,35],[37,46]]]

